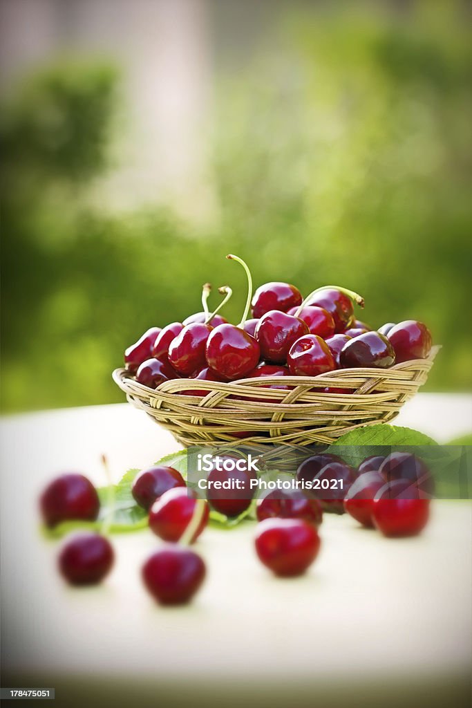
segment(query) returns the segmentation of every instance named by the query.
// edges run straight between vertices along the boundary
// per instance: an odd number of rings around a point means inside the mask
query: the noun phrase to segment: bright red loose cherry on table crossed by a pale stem
[[[208,523],[208,504],[198,524],[190,543],[194,543]],[[175,487],[164,492],[151,506],[149,511],[149,528],[164,541],[177,542],[183,536],[195,513],[197,500],[190,496],[190,491],[183,487]]]

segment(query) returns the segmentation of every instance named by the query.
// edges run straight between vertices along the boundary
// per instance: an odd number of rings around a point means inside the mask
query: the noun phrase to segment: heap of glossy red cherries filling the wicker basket
[[[248,266],[238,256],[226,258],[240,263],[248,278],[241,322],[237,326],[229,324],[217,314],[231,297],[227,286],[219,289],[226,293],[224,301],[209,313],[210,287],[206,284],[204,312],[163,329],[151,327],[127,348],[125,366],[139,383],[155,389],[179,377],[216,382],[287,375],[313,377],[335,369],[391,367],[430,353],[431,334],[422,322],[390,322],[373,331],[355,319],[354,304],[364,307],[362,297],[337,286],[320,287],[303,299],[294,285],[267,282],[252,297]],[[250,306],[253,318],[247,319]],[[205,396],[207,391],[189,389],[183,393]]]

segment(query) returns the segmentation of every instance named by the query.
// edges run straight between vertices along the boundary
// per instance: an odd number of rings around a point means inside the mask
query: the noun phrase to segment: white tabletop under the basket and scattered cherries
[[[396,425],[446,442],[472,429],[472,396],[418,394]],[[325,515],[321,554],[301,578],[276,579],[253,551],[253,523],[207,529],[208,577],[188,607],[163,609],[139,577],[159,547],[148,530],[115,536],[117,560],[98,588],[73,590],[55,571],[57,542],[38,532],[38,493],[78,470],[103,484],[178,444],[128,404],[1,421],[4,668],[38,675],[174,676],[277,687],[376,676],[464,675],[471,665],[471,503],[437,501],[425,532],[384,539],[347,515]],[[316,660],[315,660],[316,658]],[[53,684],[52,684],[53,685]],[[307,689],[308,690],[308,689]]]

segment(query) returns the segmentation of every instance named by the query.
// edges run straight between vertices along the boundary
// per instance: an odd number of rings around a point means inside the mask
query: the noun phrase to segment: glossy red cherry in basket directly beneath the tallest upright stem
[[[260,348],[254,337],[234,324],[220,324],[207,339],[207,363],[225,379],[243,378],[255,367]]]

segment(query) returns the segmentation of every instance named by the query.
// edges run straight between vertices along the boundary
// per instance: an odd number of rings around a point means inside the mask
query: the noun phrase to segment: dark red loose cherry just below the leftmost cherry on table
[[[108,539],[98,533],[69,537],[59,554],[59,571],[71,585],[96,585],[113,566],[115,554]]]

